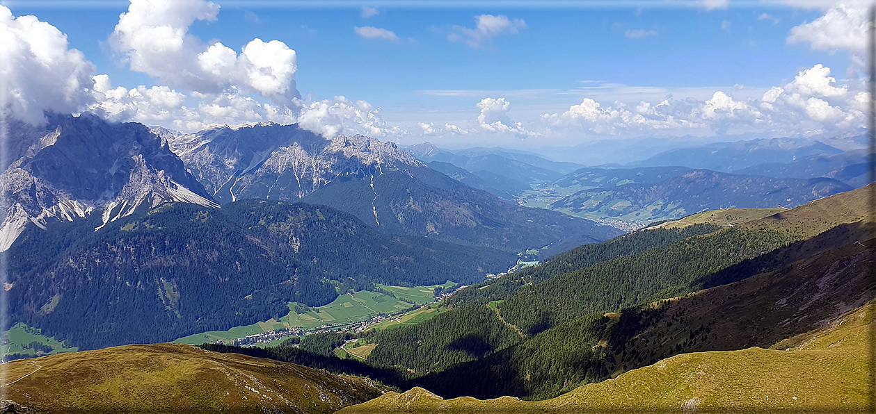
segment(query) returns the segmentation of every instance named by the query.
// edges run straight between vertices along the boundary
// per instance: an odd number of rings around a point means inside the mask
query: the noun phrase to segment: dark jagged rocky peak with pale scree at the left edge
[[[168,201],[218,207],[180,158],[140,123],[108,123],[90,114],[47,114],[39,127],[7,121],[10,154],[18,158],[0,176],[0,250],[28,222],[45,228],[46,221],[96,213],[105,224]]]

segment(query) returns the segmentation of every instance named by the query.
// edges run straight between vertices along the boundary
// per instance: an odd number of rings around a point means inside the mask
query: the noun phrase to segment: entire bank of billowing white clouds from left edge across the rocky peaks
[[[0,6],[0,100],[4,116],[31,123],[44,111],[91,111],[110,121],[201,130],[214,124],[299,123],[325,137],[404,133],[380,109],[343,96],[302,100],[295,88],[295,51],[279,40],[253,39],[240,53],[188,33],[195,20],[215,20],[219,6],[203,0],[131,0],[110,44],[132,70],[159,86],[114,86],[53,25],[14,18]]]

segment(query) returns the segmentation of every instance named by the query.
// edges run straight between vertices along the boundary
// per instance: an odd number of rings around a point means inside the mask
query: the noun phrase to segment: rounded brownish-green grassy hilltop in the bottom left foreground
[[[381,395],[371,380],[187,345],[110,347],[13,361],[6,398],[35,412],[329,413]]]

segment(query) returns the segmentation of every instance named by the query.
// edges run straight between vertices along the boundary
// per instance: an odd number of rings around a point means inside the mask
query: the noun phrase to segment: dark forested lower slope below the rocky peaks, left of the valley
[[[471,283],[515,259],[281,201],[166,204],[96,232],[95,220],[25,230],[7,252],[12,320],[84,348],[174,340],[373,283]]]

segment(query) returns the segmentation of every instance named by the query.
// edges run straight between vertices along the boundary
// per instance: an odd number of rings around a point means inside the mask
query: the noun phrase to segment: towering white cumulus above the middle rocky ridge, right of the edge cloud
[[[90,109],[110,119],[159,123],[179,130],[261,121],[299,123],[325,137],[400,132],[385,125],[380,109],[343,96],[302,100],[295,87],[297,55],[279,40],[253,39],[240,53],[219,41],[206,44],[188,32],[196,20],[214,21],[219,6],[204,0],[131,0],[110,44],[131,70],[166,86],[113,88],[95,77]],[[362,30],[360,30],[362,29]],[[364,36],[397,39],[392,32],[357,28]],[[179,89],[179,90],[178,90]],[[187,104],[188,103],[188,104]]]

